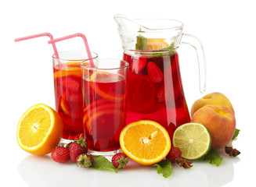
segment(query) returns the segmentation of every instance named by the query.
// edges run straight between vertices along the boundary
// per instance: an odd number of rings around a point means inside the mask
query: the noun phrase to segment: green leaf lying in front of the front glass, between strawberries
[[[103,156],[92,156],[94,159],[94,163],[91,168],[96,170],[110,170],[117,173],[117,168],[114,168],[113,164]]]

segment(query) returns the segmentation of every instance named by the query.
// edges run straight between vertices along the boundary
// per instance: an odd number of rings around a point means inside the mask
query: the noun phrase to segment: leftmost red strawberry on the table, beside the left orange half
[[[58,146],[52,150],[51,157],[53,161],[64,164],[70,161],[70,152],[66,147]]]

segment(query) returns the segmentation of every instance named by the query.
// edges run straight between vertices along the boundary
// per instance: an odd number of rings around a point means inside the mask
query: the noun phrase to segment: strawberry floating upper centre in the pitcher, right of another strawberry
[[[154,62],[147,63],[147,74],[153,83],[160,83],[164,79],[164,73]]]

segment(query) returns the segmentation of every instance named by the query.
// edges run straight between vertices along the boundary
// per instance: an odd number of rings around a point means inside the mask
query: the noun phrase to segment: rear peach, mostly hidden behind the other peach
[[[225,97],[224,94],[215,92],[215,93],[207,94],[206,96],[195,101],[191,108],[191,112],[190,112],[191,116],[193,116],[193,114],[199,108],[202,108],[207,104],[218,105],[218,106],[229,108],[229,110],[232,111],[233,114],[235,114],[235,111],[229,99]]]

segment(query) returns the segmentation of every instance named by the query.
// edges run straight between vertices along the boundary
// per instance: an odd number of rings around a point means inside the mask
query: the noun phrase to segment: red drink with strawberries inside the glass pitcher
[[[179,125],[190,122],[178,53],[160,57],[124,53],[123,58],[130,65],[126,124],[153,120],[163,125],[172,139]]]

